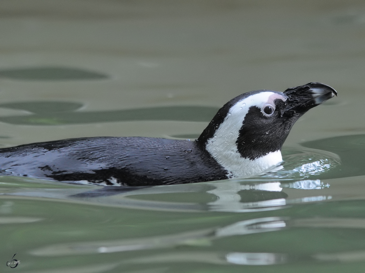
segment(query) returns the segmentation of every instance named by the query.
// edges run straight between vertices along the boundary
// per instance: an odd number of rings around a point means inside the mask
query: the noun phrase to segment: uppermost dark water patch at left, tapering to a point
[[[98,80],[105,74],[70,67],[28,67],[0,70],[0,78],[13,80]]]

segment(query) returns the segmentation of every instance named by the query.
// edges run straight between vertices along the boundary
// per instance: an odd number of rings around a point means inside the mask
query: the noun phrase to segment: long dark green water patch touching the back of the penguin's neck
[[[112,111],[76,111],[82,104],[69,102],[3,103],[0,107],[32,112],[26,116],[3,116],[1,122],[24,125],[82,124],[134,120],[177,120],[209,122],[219,108],[204,106],[161,106]]]

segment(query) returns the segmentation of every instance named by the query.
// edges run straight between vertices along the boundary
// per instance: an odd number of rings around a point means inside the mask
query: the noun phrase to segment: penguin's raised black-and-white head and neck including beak
[[[262,173],[281,163],[281,147],[296,120],[334,95],[322,83],[244,93],[220,108],[197,143],[231,177]]]

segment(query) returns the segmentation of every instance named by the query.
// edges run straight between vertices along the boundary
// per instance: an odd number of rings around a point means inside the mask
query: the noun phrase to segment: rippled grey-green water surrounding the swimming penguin
[[[365,272],[364,18],[358,0],[1,1],[1,147],[195,139],[251,90],[338,98],[298,120],[283,169],[250,179],[0,177],[0,273]]]

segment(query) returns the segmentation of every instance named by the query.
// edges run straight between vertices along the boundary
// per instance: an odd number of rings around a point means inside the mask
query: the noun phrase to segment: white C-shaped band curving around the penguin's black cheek
[[[205,149],[228,171],[230,178],[243,178],[264,173],[283,161],[280,151],[269,153],[255,160],[242,158],[236,144],[239,130],[249,108],[251,106],[262,108],[267,103],[274,104],[275,99],[286,100],[284,95],[265,91],[238,101],[231,107],[214,136],[208,139]]]

